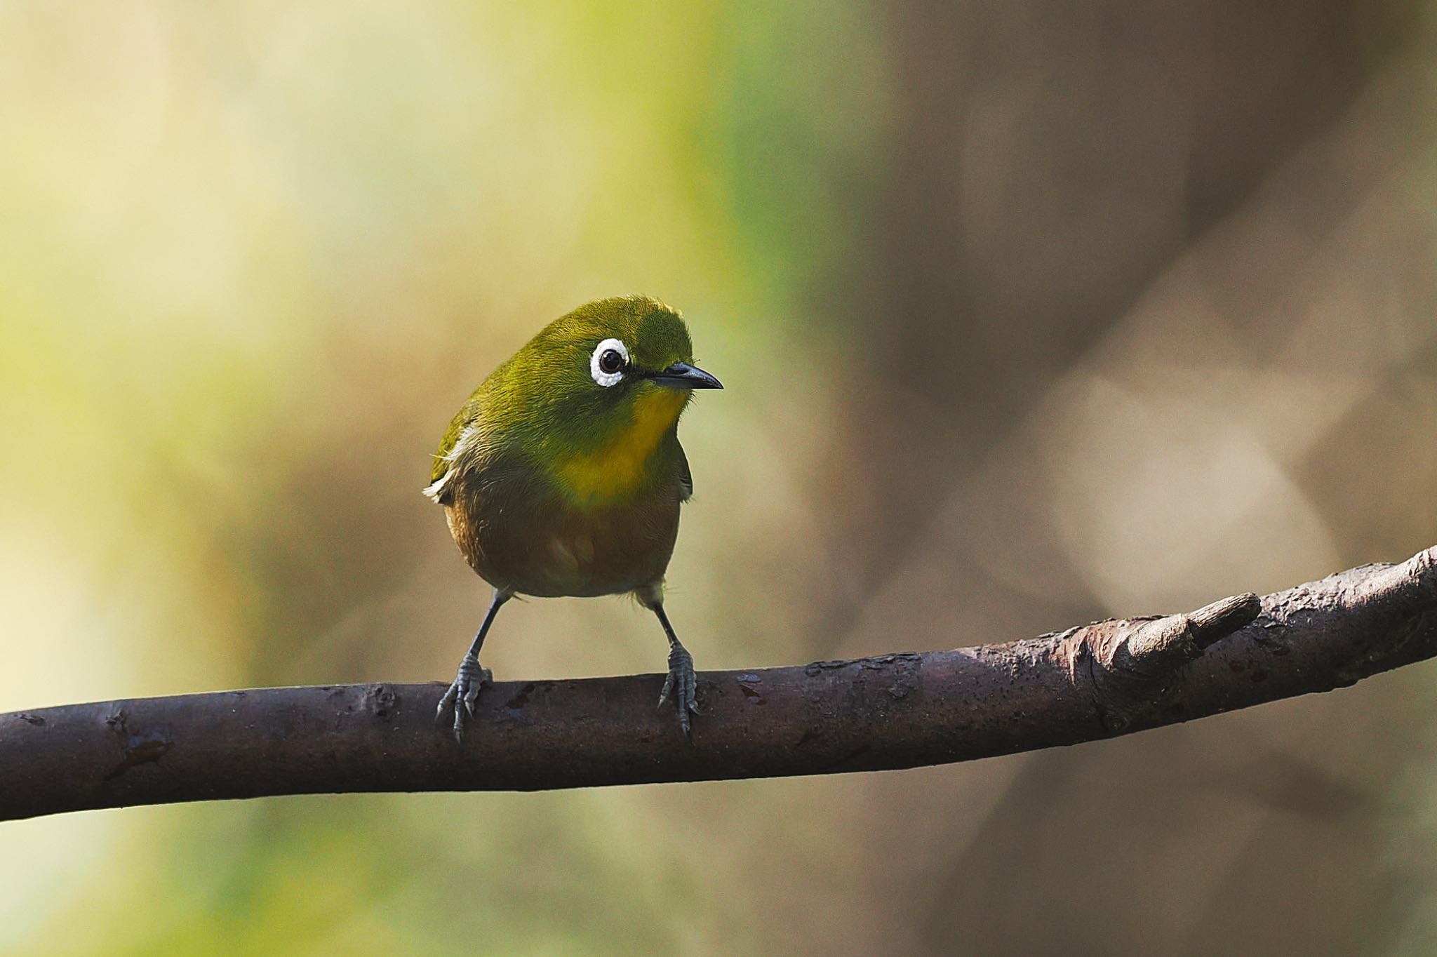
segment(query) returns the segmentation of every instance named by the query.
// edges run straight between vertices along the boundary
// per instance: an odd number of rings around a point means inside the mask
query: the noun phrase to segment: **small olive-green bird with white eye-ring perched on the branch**
[[[474,644],[440,701],[461,740],[489,668],[479,649],[514,595],[634,593],[668,635],[668,678],[684,734],[697,713],[694,661],[664,614],[678,506],[694,491],[678,444],[693,389],[688,326],[647,296],[601,299],[550,322],[494,369],[440,441],[431,484],[470,568],[494,586]]]

